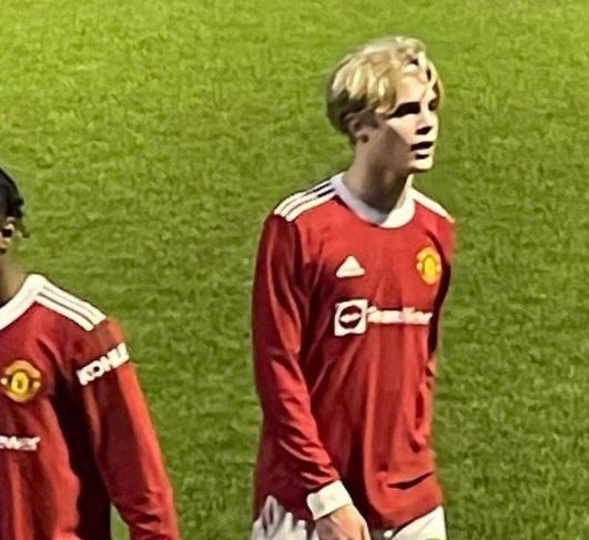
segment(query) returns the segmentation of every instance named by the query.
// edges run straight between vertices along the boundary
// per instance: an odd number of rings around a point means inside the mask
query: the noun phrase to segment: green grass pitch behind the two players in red
[[[345,166],[325,74],[387,33],[424,39],[447,89],[419,185],[460,227],[436,424],[450,538],[589,538],[585,2],[2,0],[0,17],[23,258],[124,323],[184,538],[246,536],[260,224]]]

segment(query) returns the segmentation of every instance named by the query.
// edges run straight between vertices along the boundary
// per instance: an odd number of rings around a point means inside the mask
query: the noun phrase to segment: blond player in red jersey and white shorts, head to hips
[[[440,99],[415,39],[347,55],[327,115],[353,163],[265,222],[252,540],[446,539],[430,425],[453,220],[412,185],[433,166]]]

